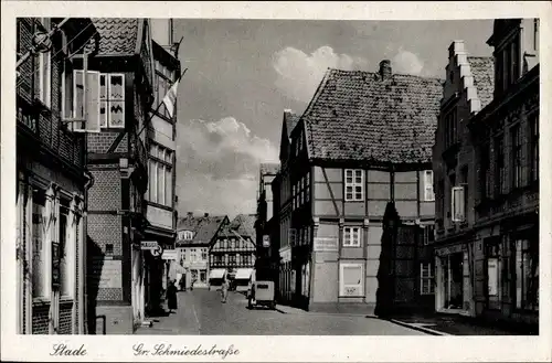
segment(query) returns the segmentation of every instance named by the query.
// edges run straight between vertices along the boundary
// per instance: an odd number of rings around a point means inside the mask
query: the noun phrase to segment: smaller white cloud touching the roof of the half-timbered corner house
[[[308,103],[328,70],[360,70],[368,62],[362,57],[338,54],[328,45],[321,46],[311,54],[288,46],[273,56],[273,66],[278,77],[276,87],[286,96]]]

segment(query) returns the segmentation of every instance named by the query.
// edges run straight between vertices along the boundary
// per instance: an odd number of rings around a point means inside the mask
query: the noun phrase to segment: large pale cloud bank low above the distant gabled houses
[[[276,147],[233,117],[179,125],[179,211],[255,213],[258,167],[277,162]]]

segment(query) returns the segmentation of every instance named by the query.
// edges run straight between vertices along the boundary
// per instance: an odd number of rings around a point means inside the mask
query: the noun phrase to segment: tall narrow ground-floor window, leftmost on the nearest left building
[[[32,209],[32,295],[33,298],[47,298],[50,291],[46,286],[49,273],[46,242],[45,242],[45,195],[43,191],[33,192]]]

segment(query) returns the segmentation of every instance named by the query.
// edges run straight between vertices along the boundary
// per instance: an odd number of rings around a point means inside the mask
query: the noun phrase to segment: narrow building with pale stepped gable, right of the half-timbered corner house
[[[492,100],[492,57],[468,56],[463,41],[448,49],[439,122],[433,150],[436,194],[435,308],[475,314],[473,281],[474,181],[477,167],[468,122]],[[475,191],[475,190],[474,190]]]

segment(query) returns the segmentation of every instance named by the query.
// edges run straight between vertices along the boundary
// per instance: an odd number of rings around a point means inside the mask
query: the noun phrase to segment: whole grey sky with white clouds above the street
[[[277,161],[285,108],[300,114],[328,67],[444,77],[448,45],[490,55],[491,20],[176,21],[179,213],[255,213],[258,164]]]

